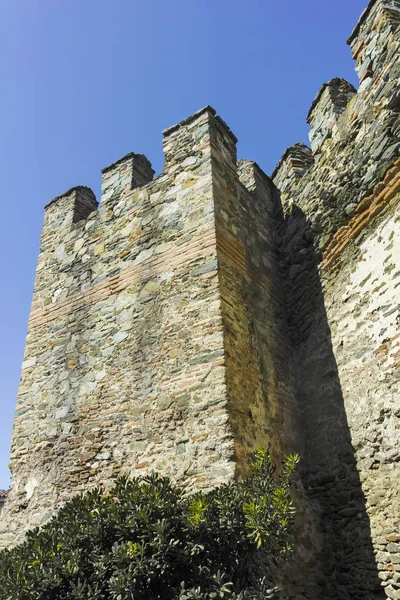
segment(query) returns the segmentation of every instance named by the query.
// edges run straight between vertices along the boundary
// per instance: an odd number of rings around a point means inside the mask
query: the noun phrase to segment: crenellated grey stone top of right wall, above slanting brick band
[[[399,156],[399,15],[400,0],[370,2],[348,40],[359,89],[340,78],[324,83],[307,115],[314,163],[303,156],[294,173],[289,148],[274,170],[284,204],[309,215],[320,250]]]

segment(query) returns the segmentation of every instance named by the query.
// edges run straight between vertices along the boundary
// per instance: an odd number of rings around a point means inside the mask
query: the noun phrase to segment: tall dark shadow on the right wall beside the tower
[[[319,599],[384,599],[318,272],[321,257],[296,206],[285,220],[281,248],[304,432],[301,478],[318,525],[312,542]]]

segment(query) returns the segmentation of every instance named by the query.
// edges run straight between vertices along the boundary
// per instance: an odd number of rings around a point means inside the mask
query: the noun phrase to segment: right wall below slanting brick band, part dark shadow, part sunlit
[[[297,257],[288,293],[306,440],[303,482],[319,521],[315,591],[328,598],[379,598],[384,586],[397,590],[398,215],[396,194],[357,244],[322,271],[305,216],[294,209],[287,221],[288,247]]]

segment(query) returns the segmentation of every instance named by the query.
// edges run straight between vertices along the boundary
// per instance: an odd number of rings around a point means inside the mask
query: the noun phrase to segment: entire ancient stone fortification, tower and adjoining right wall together
[[[271,178],[206,107],[46,206],[1,542],[73,493],[300,452],[298,600],[400,598],[400,0]],[[300,565],[300,568],[298,566]]]

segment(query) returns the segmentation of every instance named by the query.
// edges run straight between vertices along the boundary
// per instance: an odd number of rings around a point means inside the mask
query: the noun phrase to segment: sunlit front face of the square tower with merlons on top
[[[234,209],[238,231],[246,213],[236,194],[244,206],[248,192],[236,173],[236,140],[212,109],[164,142],[165,172],[132,190],[135,157],[118,161],[103,173],[114,178],[115,193],[106,190],[86,221],[65,219],[72,196],[46,211],[3,515],[8,536],[116,472],[162,470],[196,489],[228,481],[239,468],[222,310],[231,291],[221,286],[216,219],[229,222]],[[257,202],[252,210],[259,206],[261,215],[268,205]],[[246,255],[255,233],[243,239]],[[265,287],[267,263],[253,246],[254,265],[240,261],[241,285],[254,278]],[[256,316],[248,316],[249,331]],[[270,341],[255,356],[263,343]],[[26,503],[28,520],[21,519]]]

